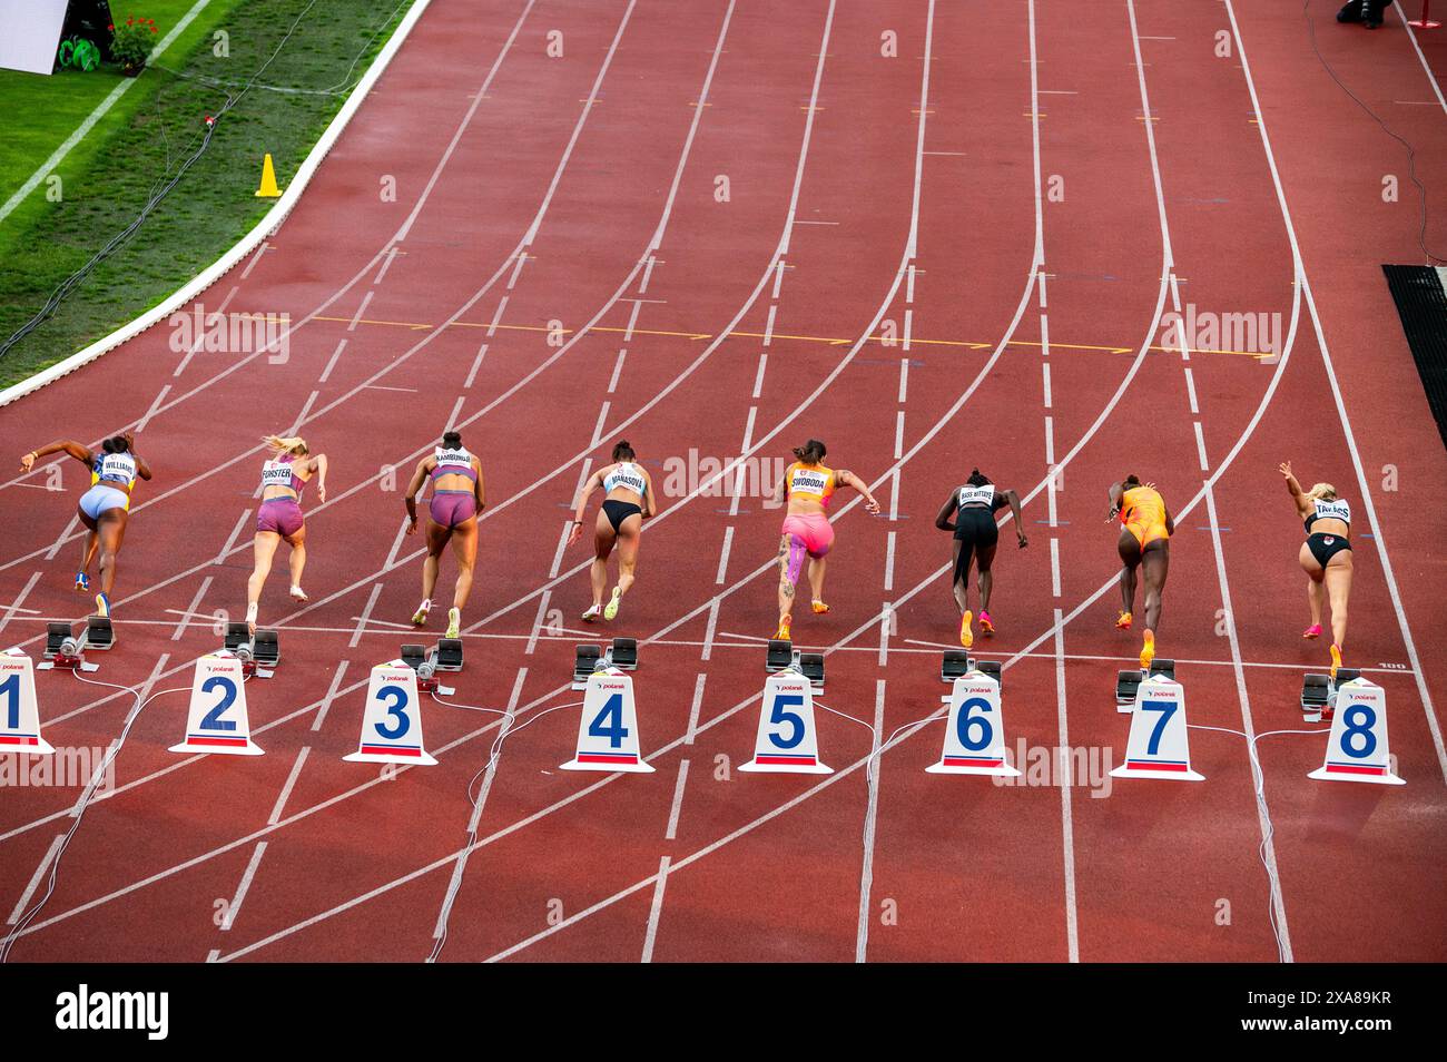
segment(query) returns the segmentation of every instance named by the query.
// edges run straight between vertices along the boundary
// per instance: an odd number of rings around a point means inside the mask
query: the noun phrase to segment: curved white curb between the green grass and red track
[[[366,98],[368,93],[372,91],[372,85],[375,85],[378,78],[382,77],[382,72],[386,69],[388,64],[391,64],[392,56],[396,55],[398,49],[402,46],[402,42],[407,41],[408,33],[411,33],[412,26],[415,26],[417,20],[423,17],[423,12],[427,10],[427,6],[430,3],[431,0],[415,0],[412,3],[411,10],[408,10],[407,14],[402,16],[402,20],[398,23],[396,30],[392,33],[392,38],[382,46],[382,51],[376,54],[376,58],[372,61],[372,65],[368,67],[366,74],[357,82],[356,88],[352,90],[350,95],[347,95],[346,103],[341,104],[341,110],[339,110],[336,113],[336,117],[331,119],[331,123],[326,127],[326,130],[321,133],[321,137],[317,140],[315,146],[311,149],[311,152],[302,161],[301,166],[297,169],[295,177],[291,178],[291,184],[287,187],[287,191],[282,192],[281,198],[276,200],[275,205],[272,205],[272,208],[266,211],[266,217],[263,217],[260,221],[256,223],[255,229],[252,229],[249,233],[246,233],[246,236],[237,240],[236,245],[230,247],[230,250],[221,255],[221,258],[218,258],[210,266],[197,273],[195,278],[192,278],[185,286],[172,292],[169,297],[166,297],[158,305],[143,313],[140,317],[135,318],[133,321],[129,321],[127,324],[123,324],[109,336],[96,340],[84,350],[78,350],[77,353],[67,357],[64,362],[56,362],[49,369],[38,372],[33,376],[23,379],[19,383],[6,388],[4,391],[0,391],[0,407],[9,405],[10,402],[14,402],[17,398],[29,395],[33,391],[39,391],[46,383],[58,381],[61,376],[75,372],[82,365],[94,362],[101,354],[114,350],[122,343],[126,343],[127,340],[139,336],[152,324],[156,324],[158,321],[169,317],[178,308],[181,308],[192,298],[200,295],[203,291],[210,288],[213,284],[216,284],[221,276],[230,272],[243,258],[246,258],[247,255],[252,253],[252,250],[260,246],[262,240],[275,233],[281,227],[282,221],[287,220],[287,216],[291,214],[292,208],[295,208],[297,201],[301,198],[301,194],[307,190],[307,185],[311,182],[313,175],[317,172],[317,166],[321,165],[321,161],[327,156],[327,152],[330,152],[331,146],[341,137],[343,130],[352,122],[352,116],[357,113],[357,109],[362,106],[362,101]]]

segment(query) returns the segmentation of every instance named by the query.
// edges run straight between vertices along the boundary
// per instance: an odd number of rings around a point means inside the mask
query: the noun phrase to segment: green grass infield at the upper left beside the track
[[[165,35],[192,3],[155,0],[127,7],[113,0],[111,10],[117,17],[127,10],[152,17]],[[200,146],[203,117],[220,111],[229,93],[240,91],[307,4],[211,0],[61,163],[62,200],[48,201],[42,182],[0,221],[0,341],[140,213],[152,188]],[[101,262],[52,318],[0,359],[0,386],[68,357],[156,305],[255,226],[272,204],[253,195],[262,155],[272,153],[285,187],[407,6],[399,0],[314,0],[260,82],[221,119],[207,152],[142,229]],[[165,12],[172,13],[169,23]],[[229,56],[213,54],[217,29],[229,33]],[[0,75],[7,137],[0,201],[119,80],[119,74],[100,71],[51,78]],[[260,84],[307,91],[279,93]],[[20,158],[12,158],[12,137]]]

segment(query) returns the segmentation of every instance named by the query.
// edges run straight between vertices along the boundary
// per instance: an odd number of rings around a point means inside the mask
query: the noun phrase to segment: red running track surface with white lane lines
[[[1447,612],[1422,515],[1447,462],[1379,269],[1421,260],[1417,204],[1405,177],[1382,201],[1405,155],[1330,81],[1298,12],[472,7],[431,6],[300,208],[205,294],[289,314],[284,363],[175,353],[153,328],[6,412],[13,451],[143,421],[158,470],[122,556],[120,647],[94,676],[122,689],[39,680],[56,745],[104,747],[155,699],[13,959],[1443,958],[1430,637]],[[1395,14],[1367,35],[1317,7],[1338,75],[1420,174],[1443,172],[1447,110]],[[1441,46],[1424,51],[1441,71]],[[1428,195],[1440,249],[1431,179]],[[1281,314],[1288,346],[1182,359],[1160,326],[1187,304]],[[425,708],[440,764],[383,777],[341,755],[417,596],[388,473],[457,424],[491,502],[467,668],[451,706]],[[247,690],[266,755],[169,754],[185,697],[165,690],[243,600],[253,440],[292,427],[333,482],[308,505],[313,602],[289,606],[281,574],[263,600],[284,641]],[[619,436],[660,485],[690,449],[778,459],[807,436],[875,485],[883,515],[836,515],[833,612],[796,625],[829,653],[822,702],[865,723],[820,712],[835,774],[737,774],[778,514],[708,470],[663,499],[606,631],[642,642],[657,773],[557,771],[577,716],[547,709],[573,703],[587,598],[585,554],[559,543]],[[1405,787],[1307,780],[1320,735],[1259,738],[1253,771],[1244,734],[1312,729],[1295,700],[1323,664],[1298,638],[1282,459],[1357,506],[1349,663],[1388,692]],[[1218,728],[1191,734],[1207,783],[925,774],[942,725],[912,723],[938,715],[956,626],[932,517],[975,464],[1027,499],[1030,547],[1001,550],[1000,632],[978,645],[1007,664],[1011,749],[1069,745],[1101,770],[1123,754],[1111,690],[1136,642],[1111,628],[1101,517],[1104,486],[1137,470],[1179,514],[1162,653],[1192,723]],[[0,628],[32,653],[81,609],[80,476],[35,490],[45,475],[0,488]],[[514,709],[491,770],[502,723],[456,705]],[[77,796],[0,797],[0,914],[45,896]]]

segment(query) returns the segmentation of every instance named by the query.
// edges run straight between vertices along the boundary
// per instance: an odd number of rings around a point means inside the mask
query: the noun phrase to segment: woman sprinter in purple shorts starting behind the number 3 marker
[[[453,606],[447,611],[447,638],[462,634],[462,611],[472,593],[472,569],[478,560],[478,514],[482,512],[482,463],[462,444],[462,434],[449,431],[443,444],[423,457],[407,485],[407,534],[417,534],[417,492],[427,479],[433,480],[433,498],[427,505],[427,560],[423,561],[423,603],[412,613],[412,625],[424,626],[433,608],[433,589],[443,548],[453,544],[457,557],[457,586]]]

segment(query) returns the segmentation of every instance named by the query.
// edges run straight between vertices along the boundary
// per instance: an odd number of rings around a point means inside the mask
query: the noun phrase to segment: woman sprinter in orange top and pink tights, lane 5
[[[784,517],[783,537],[778,540],[778,629],[776,638],[790,638],[793,624],[794,587],[803,574],[805,557],[809,557],[809,589],[813,592],[813,611],[823,613],[823,570],[829,547],[833,545],[833,528],[829,525],[828,506],[836,488],[852,486],[864,495],[864,508],[878,512],[868,485],[844,469],[835,472],[825,467],[828,449],[818,438],[810,438],[794,450],[797,459],[784,469],[784,477],[774,492],[776,502],[789,502]]]

